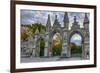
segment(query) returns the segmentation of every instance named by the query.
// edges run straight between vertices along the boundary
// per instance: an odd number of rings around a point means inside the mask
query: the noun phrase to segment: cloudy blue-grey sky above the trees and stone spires
[[[48,14],[50,14],[50,20],[51,25],[53,25],[55,20],[55,15],[57,15],[57,19],[60,22],[61,26],[63,27],[63,18],[64,18],[64,12],[61,11],[37,11],[37,10],[25,10],[22,9],[20,11],[21,16],[21,24],[32,24],[32,23],[42,23],[43,25],[46,25]],[[73,18],[76,16],[77,21],[79,25],[83,26],[83,20],[84,20],[85,13],[82,12],[68,12],[69,17],[69,27],[72,26]],[[89,18],[89,13],[87,14]]]

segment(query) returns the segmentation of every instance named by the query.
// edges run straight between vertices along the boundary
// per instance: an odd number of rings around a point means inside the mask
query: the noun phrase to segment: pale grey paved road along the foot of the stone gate
[[[21,58],[22,63],[29,63],[29,62],[49,62],[49,61],[71,61],[71,60],[82,60],[80,57],[72,57],[72,58],[59,58],[59,57],[50,57],[50,58]]]

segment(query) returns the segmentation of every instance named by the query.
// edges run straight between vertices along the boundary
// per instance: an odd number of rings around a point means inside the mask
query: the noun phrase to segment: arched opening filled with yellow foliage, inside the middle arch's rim
[[[52,54],[53,56],[60,56],[61,55],[61,35],[60,33],[56,32],[52,38]]]

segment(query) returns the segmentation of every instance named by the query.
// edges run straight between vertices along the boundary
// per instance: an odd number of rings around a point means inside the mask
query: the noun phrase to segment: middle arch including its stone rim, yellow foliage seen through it
[[[60,29],[51,32],[51,50],[52,56],[60,56],[62,50],[62,33]]]

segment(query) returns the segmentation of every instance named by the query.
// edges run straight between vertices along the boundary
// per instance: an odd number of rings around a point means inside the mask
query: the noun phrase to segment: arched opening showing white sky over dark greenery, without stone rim
[[[71,57],[82,57],[83,38],[79,33],[73,33],[70,37]]]

